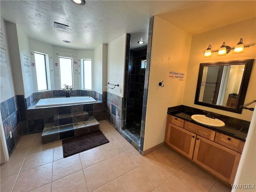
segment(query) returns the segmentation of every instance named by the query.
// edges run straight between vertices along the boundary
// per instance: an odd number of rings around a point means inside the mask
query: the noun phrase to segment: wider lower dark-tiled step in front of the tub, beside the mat
[[[98,130],[100,130],[100,124],[93,116],[89,117],[87,121],[62,126],[55,126],[53,123],[45,124],[42,132],[42,144],[81,136]]]

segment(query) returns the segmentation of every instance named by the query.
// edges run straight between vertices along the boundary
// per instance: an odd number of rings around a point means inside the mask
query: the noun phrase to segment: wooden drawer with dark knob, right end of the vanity
[[[216,133],[214,141],[239,153],[242,153],[244,148],[243,141],[218,132]]]

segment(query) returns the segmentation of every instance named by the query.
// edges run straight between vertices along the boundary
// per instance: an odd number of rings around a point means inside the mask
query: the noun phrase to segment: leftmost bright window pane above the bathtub
[[[35,52],[34,56],[38,91],[48,90],[45,54]]]

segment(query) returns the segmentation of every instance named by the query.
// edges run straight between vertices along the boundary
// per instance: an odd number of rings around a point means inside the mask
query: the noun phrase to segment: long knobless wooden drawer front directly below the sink
[[[215,131],[204,128],[202,126],[199,126],[194,123],[190,123],[188,121],[185,121],[184,129],[189,130],[197,135],[200,135],[206,139],[214,140],[215,137]]]

